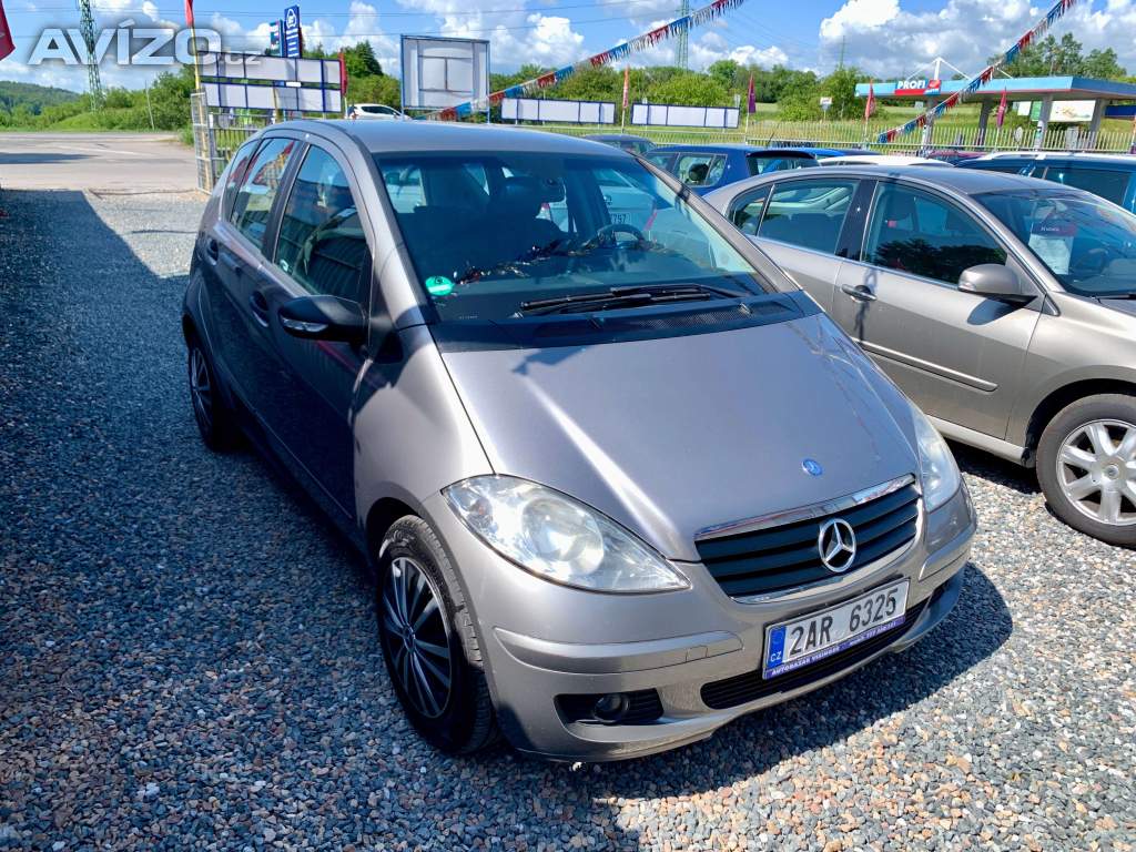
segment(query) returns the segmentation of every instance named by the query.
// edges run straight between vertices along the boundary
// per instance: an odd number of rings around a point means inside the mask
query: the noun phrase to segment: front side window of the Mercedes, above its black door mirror
[[[308,149],[276,241],[276,264],[312,294],[367,306],[370,254],[346,175],[316,145]]]

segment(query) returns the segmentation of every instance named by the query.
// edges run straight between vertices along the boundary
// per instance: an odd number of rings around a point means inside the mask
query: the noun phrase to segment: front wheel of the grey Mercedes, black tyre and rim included
[[[391,525],[379,553],[378,635],[407,717],[450,754],[492,745],[499,734],[482,645],[437,535],[406,516]]]

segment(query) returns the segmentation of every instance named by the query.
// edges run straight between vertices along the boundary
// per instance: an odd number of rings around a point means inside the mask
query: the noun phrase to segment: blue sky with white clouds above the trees
[[[487,39],[491,68],[512,72],[526,62],[558,66],[596,53],[678,17],[680,0],[300,0],[304,37],[337,49],[367,40],[383,68],[398,75],[399,36],[438,34]],[[691,0],[692,8],[703,0]],[[75,27],[74,0],[0,0],[16,52],[0,61],[0,80],[82,91],[86,69],[59,62],[28,65],[44,27]],[[259,52],[268,20],[283,16],[264,0],[197,0],[199,27],[222,34],[226,50]],[[182,0],[93,0],[95,30],[133,20],[136,26],[181,26]],[[977,73],[1005,50],[1047,7],[1026,0],[745,0],[690,37],[691,67],[718,59],[775,64],[825,74],[843,60],[880,80],[928,76],[944,57]],[[1083,0],[1059,22],[1085,50],[1111,47],[1136,74],[1136,0]],[[109,51],[112,58],[114,48]],[[633,65],[674,61],[674,41],[632,58]],[[101,66],[105,85],[139,87],[160,68]],[[947,76],[944,73],[944,76]]]

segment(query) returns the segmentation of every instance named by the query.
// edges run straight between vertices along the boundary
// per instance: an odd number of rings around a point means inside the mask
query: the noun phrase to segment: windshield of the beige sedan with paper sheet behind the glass
[[[992,192],[976,199],[1072,293],[1136,293],[1136,216],[1088,194]]]

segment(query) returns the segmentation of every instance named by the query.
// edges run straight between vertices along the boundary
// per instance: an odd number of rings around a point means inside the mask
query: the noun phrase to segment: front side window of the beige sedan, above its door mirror
[[[863,259],[958,284],[971,266],[1004,264],[1005,251],[970,214],[919,190],[886,184],[876,197]]]

